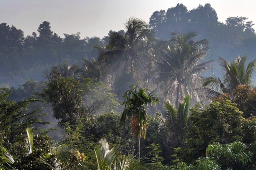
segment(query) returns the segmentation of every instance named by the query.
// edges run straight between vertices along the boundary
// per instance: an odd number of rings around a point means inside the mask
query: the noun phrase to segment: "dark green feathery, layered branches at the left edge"
[[[0,89],[0,145],[5,143],[15,143],[20,134],[26,133],[26,128],[34,123],[46,124],[40,120],[45,114],[39,114],[40,108],[32,109],[30,104],[33,102],[44,102],[44,100],[35,99],[34,96],[16,102],[8,100],[11,92],[7,89]]]

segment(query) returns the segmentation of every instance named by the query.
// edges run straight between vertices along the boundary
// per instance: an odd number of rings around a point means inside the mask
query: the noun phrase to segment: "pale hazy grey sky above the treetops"
[[[177,3],[188,10],[210,3],[221,22],[230,16],[247,16],[256,23],[255,0],[0,0],[0,23],[13,24],[25,36],[49,21],[52,31],[61,37],[63,33],[80,32],[81,38],[102,38],[110,29],[124,29],[123,23],[130,16],[149,21],[154,11],[167,10]]]

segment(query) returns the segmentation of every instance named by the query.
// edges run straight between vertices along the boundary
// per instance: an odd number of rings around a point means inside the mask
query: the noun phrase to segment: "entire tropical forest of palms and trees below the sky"
[[[0,169],[256,169],[247,19],[177,4],[102,39],[1,23]]]

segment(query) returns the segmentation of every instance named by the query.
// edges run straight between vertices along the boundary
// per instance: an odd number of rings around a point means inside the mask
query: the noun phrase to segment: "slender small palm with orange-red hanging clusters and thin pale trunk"
[[[140,138],[146,138],[148,129],[148,114],[146,106],[158,104],[159,98],[146,88],[137,89],[137,86],[130,86],[124,94],[124,110],[120,119],[120,125],[124,125],[127,119],[132,119],[132,131],[138,139],[138,158],[140,158]],[[148,92],[148,94],[147,94]]]

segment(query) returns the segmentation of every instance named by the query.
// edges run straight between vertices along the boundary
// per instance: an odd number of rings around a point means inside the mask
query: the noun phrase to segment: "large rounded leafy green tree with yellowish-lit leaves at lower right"
[[[206,148],[214,142],[230,143],[242,141],[242,112],[230,100],[220,99],[205,109],[192,109],[189,120],[186,146],[176,149],[178,158],[192,162],[205,156]]]

